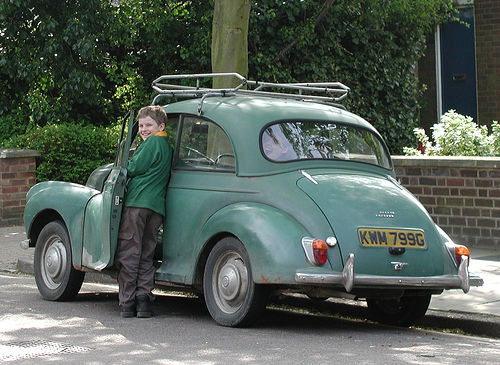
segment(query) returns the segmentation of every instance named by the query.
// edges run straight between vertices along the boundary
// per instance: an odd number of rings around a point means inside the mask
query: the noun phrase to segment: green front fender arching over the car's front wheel
[[[99,191],[73,183],[46,181],[33,186],[26,196],[24,226],[30,246],[51,220],[61,219],[71,241],[73,266],[81,267],[85,207]]]

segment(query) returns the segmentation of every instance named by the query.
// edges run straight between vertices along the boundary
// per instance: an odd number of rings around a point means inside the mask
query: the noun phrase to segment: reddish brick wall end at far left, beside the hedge
[[[35,184],[36,156],[31,150],[0,150],[0,226],[23,223],[26,193]]]

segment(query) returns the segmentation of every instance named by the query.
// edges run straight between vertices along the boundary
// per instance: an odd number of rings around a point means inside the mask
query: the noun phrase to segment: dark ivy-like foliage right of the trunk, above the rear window
[[[343,82],[352,90],[348,109],[371,122],[391,152],[399,153],[414,141],[418,126],[423,89],[415,65],[425,35],[452,10],[450,0],[259,0],[250,17],[249,74],[282,82]]]

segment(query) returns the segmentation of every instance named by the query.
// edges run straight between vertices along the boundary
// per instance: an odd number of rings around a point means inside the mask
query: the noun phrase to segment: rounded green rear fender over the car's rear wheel
[[[295,270],[309,266],[301,240],[310,233],[292,216],[272,206],[254,202],[226,206],[207,220],[200,242],[210,242],[221,232],[243,243],[256,283],[294,284]]]

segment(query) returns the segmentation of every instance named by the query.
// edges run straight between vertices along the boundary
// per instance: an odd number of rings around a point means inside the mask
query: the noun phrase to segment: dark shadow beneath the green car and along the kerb
[[[117,291],[86,291],[78,294],[75,301],[96,307],[96,316],[119,317]],[[98,308],[102,308],[99,312]],[[202,297],[182,292],[156,294],[153,311],[157,320],[164,318],[191,319],[217,325],[210,317]],[[319,301],[301,297],[279,296],[271,298],[269,305],[251,326],[259,329],[287,331],[315,331],[346,329],[351,331],[409,330],[402,327],[380,325],[368,320],[366,306],[342,302]],[[415,326],[417,329],[433,329],[444,332],[465,333],[500,338],[498,326],[483,324],[456,316],[428,313]]]

